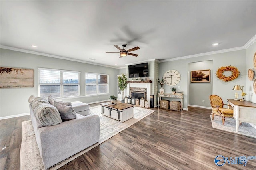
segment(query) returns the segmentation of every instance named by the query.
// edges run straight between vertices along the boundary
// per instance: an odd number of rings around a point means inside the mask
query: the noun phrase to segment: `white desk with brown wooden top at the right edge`
[[[256,124],[256,104],[250,101],[238,101],[227,99],[229,105],[233,107],[233,117],[236,119],[236,132],[239,123],[248,122]]]

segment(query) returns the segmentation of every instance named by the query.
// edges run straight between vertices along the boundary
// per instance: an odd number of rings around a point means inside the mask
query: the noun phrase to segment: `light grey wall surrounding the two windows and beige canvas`
[[[0,49],[1,67],[17,67],[34,69],[34,87],[31,88],[1,88],[0,89],[0,117],[28,113],[28,97],[38,96],[38,67],[81,71],[80,91],[81,96],[63,99],[63,101],[82,101],[91,103],[109,99],[109,94],[117,95],[118,69],[102,67],[87,63],[68,61],[52,57],[45,57],[8,49]],[[85,97],[85,72],[104,73],[109,75],[109,94]]]

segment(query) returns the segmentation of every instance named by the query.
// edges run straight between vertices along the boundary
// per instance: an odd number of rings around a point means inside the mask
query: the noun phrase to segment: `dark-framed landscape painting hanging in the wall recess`
[[[191,83],[210,82],[210,70],[191,71]]]

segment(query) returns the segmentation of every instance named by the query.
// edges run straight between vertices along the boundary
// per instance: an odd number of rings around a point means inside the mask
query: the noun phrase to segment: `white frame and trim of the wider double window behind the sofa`
[[[40,84],[40,71],[39,70],[50,70],[50,71],[60,71],[60,97],[55,97],[56,99],[64,99],[64,98],[70,98],[70,97],[80,97],[80,81],[81,81],[81,71],[70,71],[70,70],[60,70],[60,69],[48,69],[48,68],[41,68],[38,67],[38,96],[40,96],[40,85],[59,85],[59,84]],[[78,96],[68,96],[63,97],[63,86],[67,85],[63,83],[63,72],[72,72],[72,73],[78,73],[78,84],[72,84],[72,85],[78,85]]]

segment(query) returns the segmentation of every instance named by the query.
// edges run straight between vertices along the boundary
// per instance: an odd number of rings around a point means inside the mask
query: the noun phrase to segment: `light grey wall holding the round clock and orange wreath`
[[[234,99],[233,87],[234,85],[245,85],[247,71],[246,71],[246,50],[231,51],[226,53],[219,53],[213,55],[205,55],[200,57],[193,57],[187,59],[179,59],[174,61],[161,61],[159,63],[159,77],[162,77],[167,70],[174,69],[180,72],[181,80],[177,86],[180,86],[178,91],[183,91],[184,94],[184,108],[188,107],[188,63],[200,62],[200,61],[213,61],[212,65],[212,94],[220,96],[224,103],[227,103],[226,99]],[[232,65],[239,69],[240,76],[230,82],[223,82],[219,80],[215,73],[219,67]],[[170,93],[171,86],[164,85],[164,93]]]

